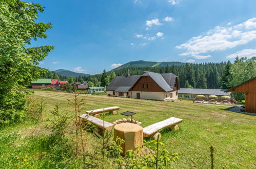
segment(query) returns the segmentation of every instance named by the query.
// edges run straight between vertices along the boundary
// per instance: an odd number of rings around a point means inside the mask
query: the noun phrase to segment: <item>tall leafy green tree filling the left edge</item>
[[[54,48],[31,47],[31,40],[46,38],[51,24],[36,23],[40,4],[19,0],[0,1],[0,126],[25,116],[27,85],[47,70],[37,67]]]

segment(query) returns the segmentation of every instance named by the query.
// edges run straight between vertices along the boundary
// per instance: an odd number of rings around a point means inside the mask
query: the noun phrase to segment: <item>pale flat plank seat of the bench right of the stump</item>
[[[178,124],[180,122],[182,122],[182,119],[176,118],[176,117],[171,117],[166,120],[151,124],[149,126],[146,126],[146,128],[143,128],[143,136],[149,137],[150,135],[152,135],[164,128],[168,128],[168,127]]]

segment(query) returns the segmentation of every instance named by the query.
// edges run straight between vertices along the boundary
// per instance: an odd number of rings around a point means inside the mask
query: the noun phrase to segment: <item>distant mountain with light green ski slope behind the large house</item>
[[[144,61],[144,60],[138,60],[138,61],[130,61],[127,64],[124,64],[120,67],[117,67],[113,70],[119,70],[123,68],[129,68],[129,67],[166,67],[168,66],[177,66],[177,65],[185,65],[186,63],[180,62],[180,61],[163,61],[163,62],[156,62],[156,61]]]

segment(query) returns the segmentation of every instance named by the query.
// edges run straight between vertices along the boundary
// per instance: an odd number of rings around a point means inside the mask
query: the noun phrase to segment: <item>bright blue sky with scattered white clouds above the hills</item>
[[[50,71],[97,74],[129,61],[191,63],[256,56],[255,0],[29,0],[45,7],[55,47],[40,62]]]

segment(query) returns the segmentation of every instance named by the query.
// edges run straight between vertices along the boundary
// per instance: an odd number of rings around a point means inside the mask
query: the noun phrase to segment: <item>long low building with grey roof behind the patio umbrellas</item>
[[[231,96],[231,92],[225,92],[224,89],[190,89],[181,88],[179,90],[179,98],[193,99],[197,95],[204,95],[205,98],[209,98],[210,95],[218,96]]]

